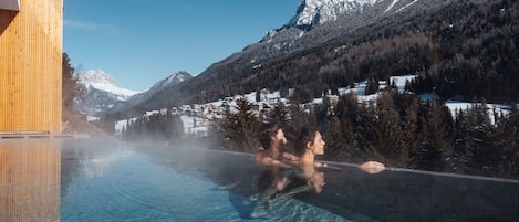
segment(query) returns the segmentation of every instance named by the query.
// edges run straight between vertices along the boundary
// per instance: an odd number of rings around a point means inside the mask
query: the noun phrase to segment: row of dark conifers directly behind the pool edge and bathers
[[[313,124],[324,134],[326,160],[378,160],[391,167],[519,178],[516,105],[508,113],[476,104],[451,114],[440,97],[422,101],[394,88],[386,88],[376,105],[347,94],[335,106],[323,103],[310,113],[294,103],[257,117],[248,102],[238,104],[239,112],[220,123],[220,141],[231,150],[258,148],[256,135],[263,121],[281,124],[291,141],[301,126]]]

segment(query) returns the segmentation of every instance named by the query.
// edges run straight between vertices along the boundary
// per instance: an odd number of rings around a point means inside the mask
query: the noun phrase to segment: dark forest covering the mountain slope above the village
[[[457,1],[435,13],[405,21],[387,19],[318,47],[258,61],[259,68],[241,67],[245,61],[238,60],[221,73],[203,76],[215,84],[190,102],[258,88],[295,88],[307,103],[328,89],[403,74],[421,76],[409,85],[415,93],[436,91],[445,99],[512,102],[519,99],[517,45],[519,2]]]

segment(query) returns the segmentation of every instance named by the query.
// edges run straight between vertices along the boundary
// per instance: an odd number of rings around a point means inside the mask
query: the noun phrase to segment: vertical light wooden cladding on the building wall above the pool
[[[0,131],[61,133],[63,0],[0,10]]]

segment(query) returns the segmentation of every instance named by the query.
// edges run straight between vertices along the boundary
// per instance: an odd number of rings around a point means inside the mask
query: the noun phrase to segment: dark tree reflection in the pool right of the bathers
[[[519,218],[519,181],[402,169],[369,175],[356,167],[341,168],[326,171],[320,198],[303,200],[344,216],[355,212],[388,222]]]

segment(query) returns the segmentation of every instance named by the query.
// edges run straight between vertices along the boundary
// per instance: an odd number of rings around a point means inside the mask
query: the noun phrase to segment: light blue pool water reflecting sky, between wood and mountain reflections
[[[289,197],[264,211],[253,195],[233,193],[195,167],[139,150],[145,148],[63,146],[61,221],[347,221]]]

